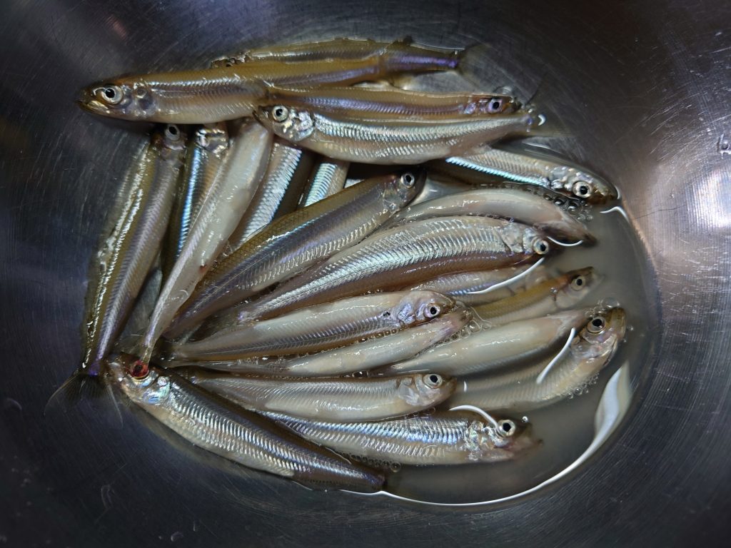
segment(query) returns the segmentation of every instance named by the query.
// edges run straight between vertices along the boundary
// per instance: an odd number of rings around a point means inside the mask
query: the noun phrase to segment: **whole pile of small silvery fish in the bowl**
[[[577,308],[599,274],[549,259],[594,244],[582,219],[617,194],[496,144],[545,120],[515,97],[391,84],[462,57],[333,39],[84,90],[92,113],[161,125],[96,259],[83,371],[317,489],[536,446],[514,417],[586,389],[624,338],[621,308]]]

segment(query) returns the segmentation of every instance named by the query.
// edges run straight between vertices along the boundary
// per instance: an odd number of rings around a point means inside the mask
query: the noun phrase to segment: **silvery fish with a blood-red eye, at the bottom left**
[[[375,492],[385,482],[382,473],[350,463],[270,419],[133,356],[110,359],[104,380],[190,443],[254,470],[317,490]]]

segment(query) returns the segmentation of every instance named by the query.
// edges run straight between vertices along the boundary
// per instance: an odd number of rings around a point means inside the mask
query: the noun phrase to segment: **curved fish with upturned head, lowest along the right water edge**
[[[610,362],[625,330],[622,308],[597,313],[556,357],[468,379],[450,397],[449,404],[524,412],[564,400],[583,392]]]

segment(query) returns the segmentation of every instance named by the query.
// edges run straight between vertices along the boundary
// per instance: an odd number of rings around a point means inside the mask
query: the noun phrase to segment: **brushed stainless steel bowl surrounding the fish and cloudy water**
[[[7,0],[0,8],[0,544],[716,544],[729,530],[731,10],[719,2]],[[586,467],[501,506],[323,495],[177,451],[90,389],[42,417],[80,355],[86,274],[145,126],[72,99],[119,72],[336,36],[489,42],[577,160],[617,183],[659,292],[659,345],[624,427]],[[494,64],[492,63],[494,61]],[[499,80],[499,81],[498,81]],[[648,269],[651,272],[652,269]],[[86,391],[86,392],[85,392]],[[145,423],[146,425],[146,423]]]

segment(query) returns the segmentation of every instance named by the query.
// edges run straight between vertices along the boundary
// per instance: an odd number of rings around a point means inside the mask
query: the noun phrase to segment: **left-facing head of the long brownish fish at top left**
[[[92,84],[81,91],[77,102],[90,113],[123,120],[150,120],[157,113],[154,94],[135,77]]]

